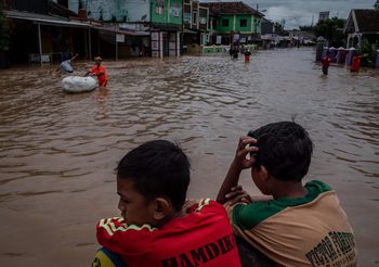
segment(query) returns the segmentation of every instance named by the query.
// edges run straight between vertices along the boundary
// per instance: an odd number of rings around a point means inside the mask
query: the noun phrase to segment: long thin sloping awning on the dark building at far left
[[[92,28],[93,25],[81,22],[74,22],[66,20],[64,17],[56,17],[30,12],[23,11],[14,11],[14,10],[4,10],[3,11],[5,17],[21,20],[21,21],[29,21],[35,24],[41,25],[52,25],[52,26],[63,26],[63,27],[81,27],[81,28]]]

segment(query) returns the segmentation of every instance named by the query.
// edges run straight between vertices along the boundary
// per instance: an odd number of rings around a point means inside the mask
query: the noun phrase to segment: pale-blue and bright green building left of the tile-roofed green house
[[[89,18],[102,22],[118,36],[126,36],[125,39],[119,38],[119,46],[127,55],[180,55],[182,0],[83,2],[68,0],[68,7],[78,13],[84,10]],[[122,30],[129,34],[118,33]]]

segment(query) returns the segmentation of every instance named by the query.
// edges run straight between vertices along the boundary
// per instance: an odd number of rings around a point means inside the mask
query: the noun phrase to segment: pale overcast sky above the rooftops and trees
[[[202,0],[205,1],[205,0]],[[215,2],[214,0],[207,0]],[[232,0],[222,0],[232,1]],[[376,0],[235,0],[243,1],[253,9],[259,4],[259,11],[265,17],[282,23],[285,20],[285,28],[292,29],[299,26],[313,25],[318,21],[321,11],[329,11],[329,16],[348,18],[351,9],[373,9]]]

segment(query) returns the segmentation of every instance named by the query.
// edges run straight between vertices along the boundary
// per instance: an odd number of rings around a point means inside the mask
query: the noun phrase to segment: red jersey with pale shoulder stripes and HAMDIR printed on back
[[[238,250],[224,207],[205,199],[184,217],[161,228],[128,226],[123,218],[97,223],[97,241],[129,266],[240,267]]]

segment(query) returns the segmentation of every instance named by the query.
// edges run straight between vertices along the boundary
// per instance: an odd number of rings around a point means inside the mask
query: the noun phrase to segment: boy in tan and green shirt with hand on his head
[[[306,130],[296,123],[250,131],[239,139],[217,200],[234,233],[276,266],[356,266],[353,230],[336,192],[322,181],[302,183],[312,152]],[[238,186],[246,168],[266,199],[254,201]]]

